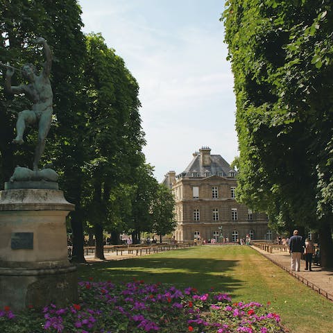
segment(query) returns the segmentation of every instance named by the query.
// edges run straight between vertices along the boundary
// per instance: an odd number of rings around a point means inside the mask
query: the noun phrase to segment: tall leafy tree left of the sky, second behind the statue
[[[133,179],[142,161],[139,87],[121,57],[106,46],[100,34],[87,36],[84,80],[89,143],[89,160],[85,164],[86,218],[94,225],[95,256],[103,259],[103,230],[117,229],[117,216],[110,210],[112,195],[121,184]]]

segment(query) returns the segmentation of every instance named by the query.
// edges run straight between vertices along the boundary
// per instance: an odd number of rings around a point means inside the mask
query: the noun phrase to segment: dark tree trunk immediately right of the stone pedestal
[[[78,212],[71,212],[71,232],[73,232],[73,250],[71,262],[85,262],[85,253],[83,251],[83,225]]]

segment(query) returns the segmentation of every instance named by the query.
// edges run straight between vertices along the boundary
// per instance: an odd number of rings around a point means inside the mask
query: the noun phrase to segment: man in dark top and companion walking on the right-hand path
[[[291,254],[291,271],[300,271],[300,258],[305,255],[305,271],[311,269],[312,257],[315,253],[314,244],[307,238],[304,240],[298,230],[293,230],[293,236],[289,239],[289,253]]]

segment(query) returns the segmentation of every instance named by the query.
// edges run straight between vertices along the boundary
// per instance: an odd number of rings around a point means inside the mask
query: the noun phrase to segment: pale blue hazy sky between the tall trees
[[[225,60],[224,0],[80,0],[85,33],[102,33],[139,83],[146,160],[162,181],[210,146],[237,155],[235,101]]]

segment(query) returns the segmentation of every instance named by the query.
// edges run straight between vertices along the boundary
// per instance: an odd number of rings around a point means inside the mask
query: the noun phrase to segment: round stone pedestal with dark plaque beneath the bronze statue
[[[0,309],[77,300],[76,267],[67,253],[71,210],[58,189],[0,191]]]

